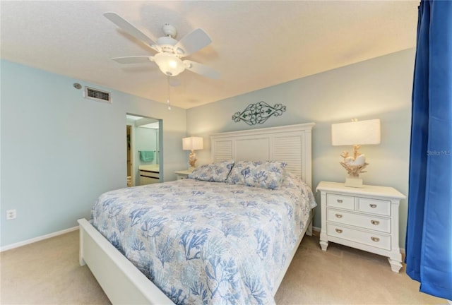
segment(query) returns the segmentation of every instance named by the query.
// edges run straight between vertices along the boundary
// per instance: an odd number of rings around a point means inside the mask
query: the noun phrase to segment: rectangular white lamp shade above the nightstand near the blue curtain
[[[331,125],[331,144],[367,145],[380,143],[380,119]]]

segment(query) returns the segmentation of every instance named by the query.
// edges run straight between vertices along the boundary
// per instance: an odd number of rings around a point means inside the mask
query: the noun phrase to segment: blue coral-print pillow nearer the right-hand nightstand
[[[227,182],[278,189],[283,183],[286,163],[277,161],[239,161],[232,167]]]

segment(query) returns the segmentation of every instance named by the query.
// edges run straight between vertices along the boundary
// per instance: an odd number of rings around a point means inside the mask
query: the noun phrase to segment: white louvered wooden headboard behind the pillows
[[[311,186],[311,131],[314,125],[307,123],[215,133],[210,136],[213,162],[286,162],[287,170]]]

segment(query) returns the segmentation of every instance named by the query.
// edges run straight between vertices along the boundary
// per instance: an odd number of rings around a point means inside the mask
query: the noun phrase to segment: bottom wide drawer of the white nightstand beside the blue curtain
[[[357,229],[350,229],[338,225],[328,223],[326,225],[327,234],[331,237],[338,237],[340,239],[347,239],[355,241],[360,244],[367,244],[380,249],[391,250],[391,237],[374,232],[364,232]]]

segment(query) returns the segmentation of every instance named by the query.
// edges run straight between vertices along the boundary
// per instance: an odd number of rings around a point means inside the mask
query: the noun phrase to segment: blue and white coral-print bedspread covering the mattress
[[[183,179],[104,193],[91,222],[175,304],[275,304],[315,205],[294,176],[275,190]]]

